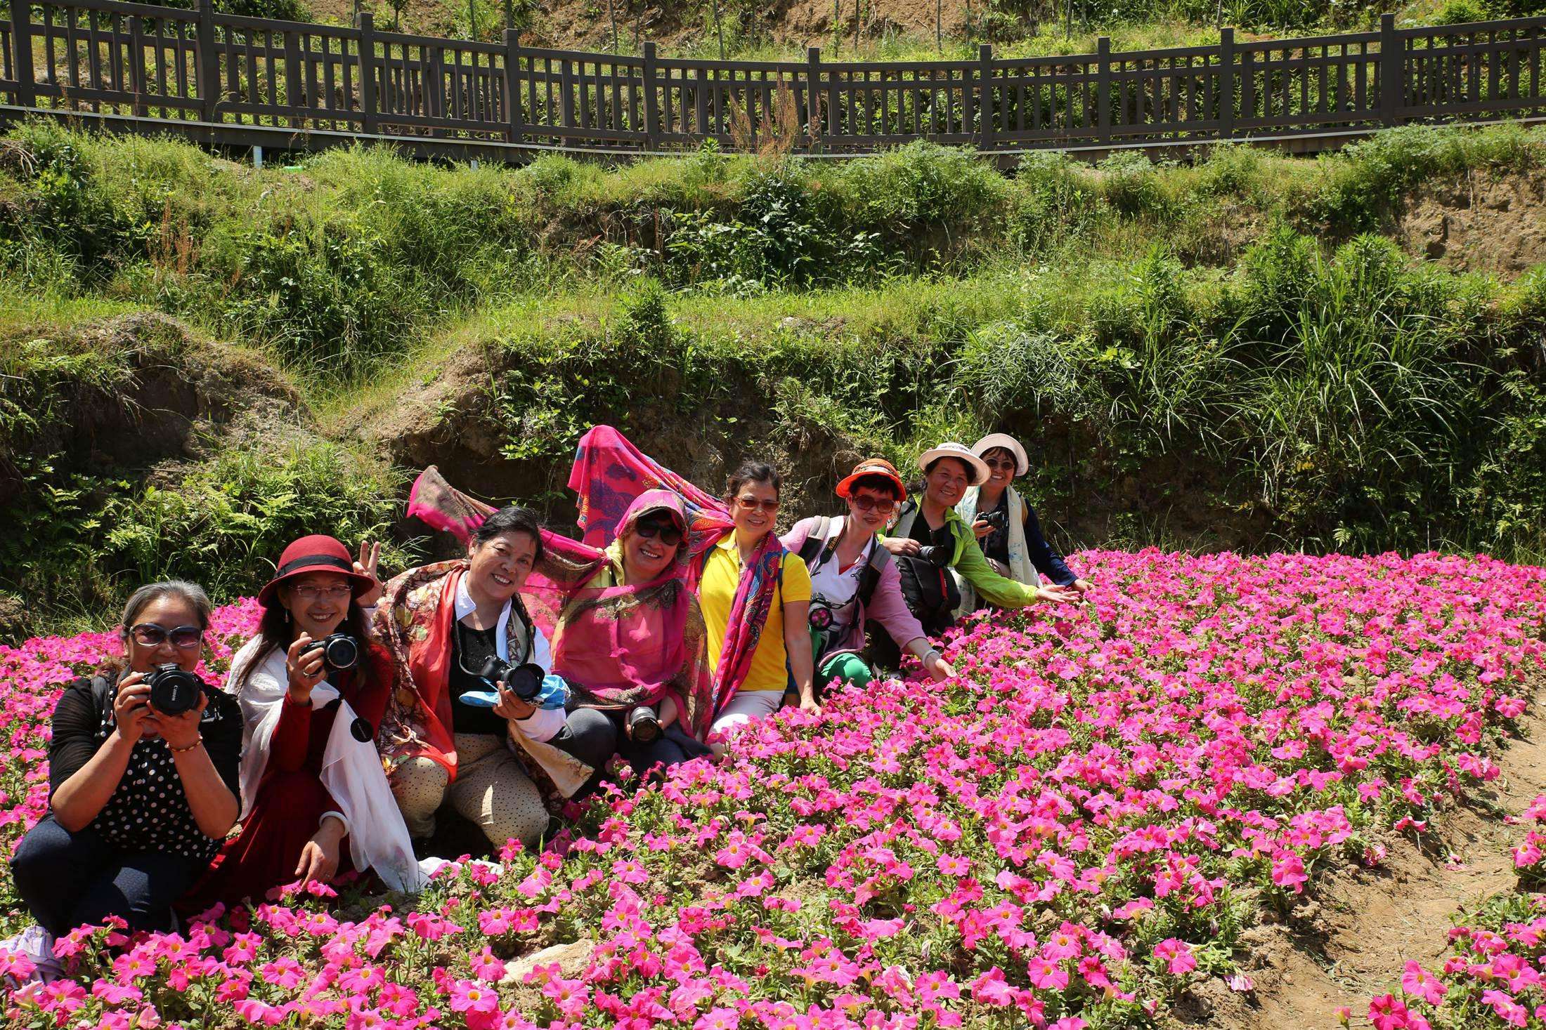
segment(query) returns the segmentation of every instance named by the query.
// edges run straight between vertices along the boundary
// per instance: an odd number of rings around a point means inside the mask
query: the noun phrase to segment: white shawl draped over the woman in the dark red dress
[[[243,670],[252,664],[260,641],[247,641],[230,661],[226,690],[241,703],[243,749],[241,749],[241,817],[252,811],[252,801],[269,764],[274,730],[280,724],[289,675],[284,670],[284,649],[275,647],[241,681]],[[238,689],[240,684],[240,689]],[[337,687],[326,679],[311,692],[312,706],[329,704],[339,696]],[[376,869],[376,874],[394,891],[416,894],[424,888],[419,863],[413,857],[413,842],[402,822],[397,800],[386,783],[386,771],[376,741],[354,740],[351,726],[356,720],[348,701],[339,700],[332,720],[332,734],[322,755],[322,784],[328,788],[348,823],[349,857],[354,868]]]

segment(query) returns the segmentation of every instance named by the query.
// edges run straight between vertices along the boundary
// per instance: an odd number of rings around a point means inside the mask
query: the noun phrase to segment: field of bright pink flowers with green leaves
[[[1204,981],[1249,991],[1246,928],[1497,777],[1546,652],[1546,571],[1486,557],[1081,562],[1093,604],[969,622],[955,683],[785,712],[541,854],[448,865],[417,899],[345,883],[182,936],[80,930],[66,977],[0,1005],[31,1027],[1156,1025]],[[218,613],[212,672],[254,615]],[[59,686],[110,647],[0,649],[6,854],[46,808]],[[19,931],[6,877],[0,902]],[[1503,897],[1452,940],[1394,971],[1374,1025],[1546,1027],[1546,905]]]

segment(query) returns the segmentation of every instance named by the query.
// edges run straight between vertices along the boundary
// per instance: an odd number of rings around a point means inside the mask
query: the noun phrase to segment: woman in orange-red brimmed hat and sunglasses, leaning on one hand
[[[898,649],[917,655],[935,681],[954,676],[955,670],[908,610],[897,562],[877,539],[908,497],[901,476],[886,459],[866,459],[838,483],[836,494],[847,502],[847,516],[801,519],[784,536],[784,547],[810,568],[816,683],[838,679],[863,687],[873,679],[864,658],[864,629],[870,619]]]

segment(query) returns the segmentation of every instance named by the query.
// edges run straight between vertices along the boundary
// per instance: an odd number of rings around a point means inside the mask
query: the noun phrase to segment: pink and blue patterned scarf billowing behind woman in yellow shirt
[[[580,496],[580,528],[587,544],[609,539],[628,503],[646,490],[669,490],[679,494],[688,513],[688,551],[693,554],[690,584],[697,590],[703,564],[714,544],[734,523],[725,505],[660,465],[634,446],[612,426],[594,426],[580,437],[575,465],[569,473],[569,490]],[[762,639],[773,595],[778,593],[784,565],[784,545],[778,533],[768,533],[751,561],[741,570],[736,598],[730,605],[725,645],[714,670],[716,710],[736,695],[751,670],[751,655]]]

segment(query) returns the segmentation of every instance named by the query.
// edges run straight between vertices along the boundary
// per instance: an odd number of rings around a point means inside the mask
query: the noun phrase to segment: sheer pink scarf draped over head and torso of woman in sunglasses
[[[703,616],[686,582],[688,548],[645,584],[623,584],[621,537],[657,510],[686,520],[682,499],[668,490],[634,497],[606,550],[543,531],[543,557],[521,596],[532,621],[553,641],[553,672],[583,707],[628,710],[669,696],[683,726],[702,741],[714,718]],[[450,486],[427,468],[408,496],[408,514],[468,540],[493,508]]]

